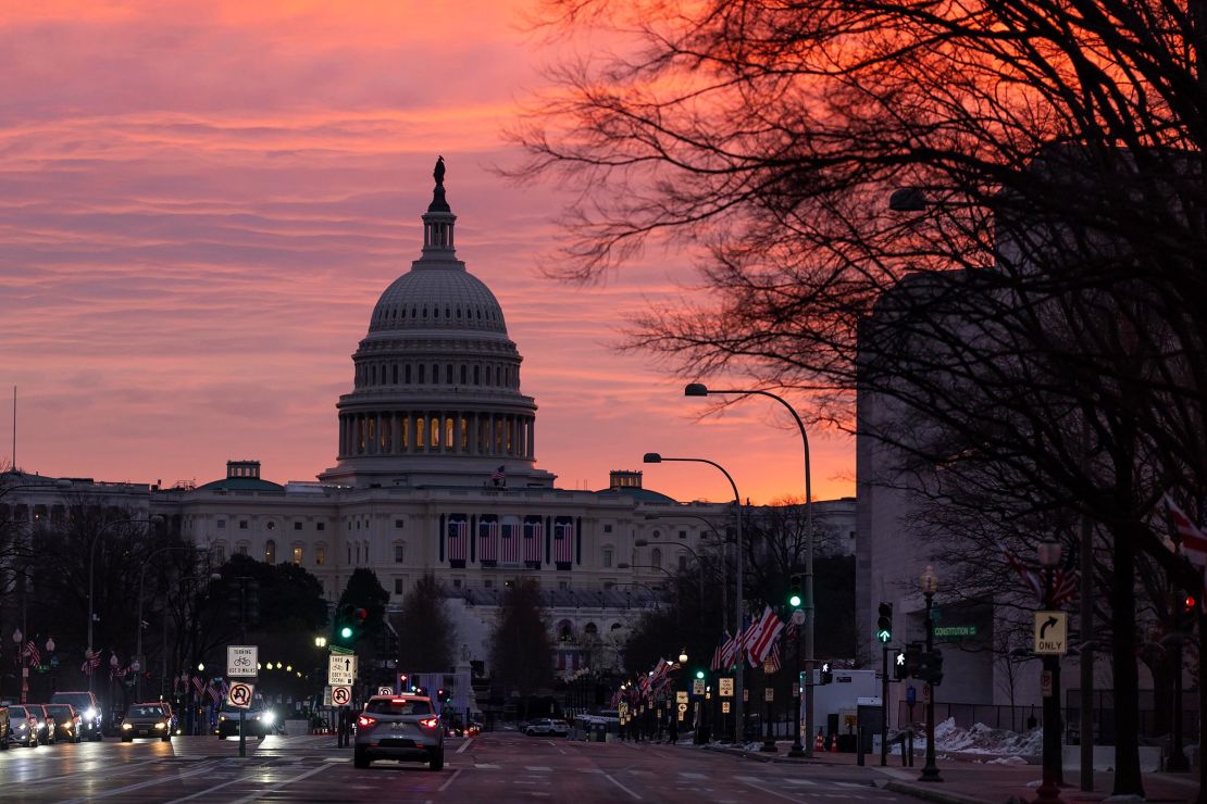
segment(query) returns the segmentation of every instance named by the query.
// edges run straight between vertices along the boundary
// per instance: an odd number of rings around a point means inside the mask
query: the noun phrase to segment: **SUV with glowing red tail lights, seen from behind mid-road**
[[[426,762],[444,768],[444,728],[426,696],[373,696],[356,718],[352,764],[374,759]]]

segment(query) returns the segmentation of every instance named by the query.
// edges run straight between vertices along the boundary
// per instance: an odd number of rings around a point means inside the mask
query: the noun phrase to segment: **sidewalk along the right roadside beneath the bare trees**
[[[855,753],[821,753],[812,759],[788,757],[791,743],[776,741],[776,753],[762,753],[742,747],[709,745],[710,751],[723,751],[756,762],[797,763],[803,765],[847,765],[857,767]],[[915,758],[912,768],[902,768],[900,756],[890,756],[888,765],[880,767],[879,755],[865,755],[863,770],[876,779],[881,787],[919,799],[938,804],[1005,804],[1011,799],[1032,802],[1036,788],[1043,777],[1043,768],[1034,764],[997,764],[993,756],[969,759],[944,757],[938,761],[941,782],[920,782],[922,757]],[[1065,769],[1065,786],[1061,798],[1069,804],[1074,802],[1102,802],[1110,797],[1114,790],[1113,773],[1094,774],[1094,792],[1083,793],[1080,775],[1075,768]],[[1147,773],[1144,774],[1144,794],[1148,802],[1194,802],[1199,792],[1196,774]]]

